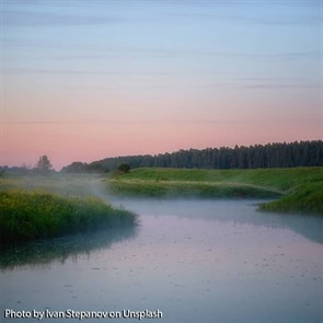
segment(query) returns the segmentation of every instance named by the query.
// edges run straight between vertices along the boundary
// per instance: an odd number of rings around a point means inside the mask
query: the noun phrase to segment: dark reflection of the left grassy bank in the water
[[[22,265],[37,266],[53,262],[64,264],[67,258],[78,259],[80,255],[90,255],[92,251],[108,249],[113,243],[134,239],[137,230],[136,227],[106,229],[2,249],[0,269],[4,272]]]

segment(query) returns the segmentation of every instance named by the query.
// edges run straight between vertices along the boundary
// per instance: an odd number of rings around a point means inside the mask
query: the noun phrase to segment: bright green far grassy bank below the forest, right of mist
[[[323,169],[134,169],[106,181],[112,194],[273,198],[262,210],[323,215]]]

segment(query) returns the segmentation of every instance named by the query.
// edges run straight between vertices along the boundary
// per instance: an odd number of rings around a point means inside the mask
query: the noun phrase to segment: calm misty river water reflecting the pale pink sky
[[[157,310],[141,322],[323,322],[323,221],[254,200],[123,200],[136,230],[2,254],[1,322],[14,311]],[[138,322],[43,319],[41,322]],[[39,322],[39,321],[38,321]]]

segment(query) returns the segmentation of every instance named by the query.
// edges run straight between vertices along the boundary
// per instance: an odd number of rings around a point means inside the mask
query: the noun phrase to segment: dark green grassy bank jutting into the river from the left
[[[0,192],[1,243],[51,238],[97,228],[136,224],[132,212],[99,198],[78,198],[22,191]]]

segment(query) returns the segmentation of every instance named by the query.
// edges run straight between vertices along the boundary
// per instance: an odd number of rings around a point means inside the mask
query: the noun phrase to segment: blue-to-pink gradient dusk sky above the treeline
[[[0,0],[0,165],[323,138],[321,1]]]

